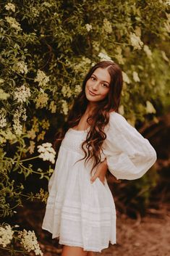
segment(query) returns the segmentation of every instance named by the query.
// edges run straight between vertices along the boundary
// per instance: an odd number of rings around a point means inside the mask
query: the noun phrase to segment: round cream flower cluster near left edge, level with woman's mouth
[[[14,99],[17,99],[17,102],[26,102],[29,97],[30,88],[25,87],[24,85],[20,88],[16,88],[16,91],[14,91]]]

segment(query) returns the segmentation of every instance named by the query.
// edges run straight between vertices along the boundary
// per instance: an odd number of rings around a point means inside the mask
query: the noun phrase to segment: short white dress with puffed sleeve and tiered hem
[[[42,228],[51,232],[52,238],[59,237],[59,244],[101,252],[109,247],[109,241],[116,243],[116,210],[106,179],[105,185],[99,178],[90,183],[93,163],[75,163],[84,157],[81,144],[87,132],[69,128],[64,136],[48,183]],[[140,178],[156,162],[153,146],[122,115],[111,112],[105,132],[102,160],[106,158],[117,179]]]

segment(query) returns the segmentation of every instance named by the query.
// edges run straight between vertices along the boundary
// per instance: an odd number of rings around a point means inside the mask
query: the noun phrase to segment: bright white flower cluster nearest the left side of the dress
[[[42,158],[43,161],[50,161],[54,164],[56,152],[52,148],[51,143],[47,142],[47,143],[43,143],[42,145],[39,145],[38,152],[41,153],[39,157]]]

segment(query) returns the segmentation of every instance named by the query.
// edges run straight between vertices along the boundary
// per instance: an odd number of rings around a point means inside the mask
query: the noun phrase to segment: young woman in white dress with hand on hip
[[[106,181],[140,178],[156,162],[147,139],[119,115],[122,71],[98,62],[82,83],[48,183],[43,229],[64,244],[61,256],[93,256],[116,243],[116,210]]]

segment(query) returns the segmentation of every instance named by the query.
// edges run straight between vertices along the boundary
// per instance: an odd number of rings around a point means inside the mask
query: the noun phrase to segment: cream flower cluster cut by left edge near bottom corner
[[[2,247],[7,247],[7,245],[10,244],[13,234],[14,231],[12,231],[10,225],[0,227],[0,244],[2,245]]]

